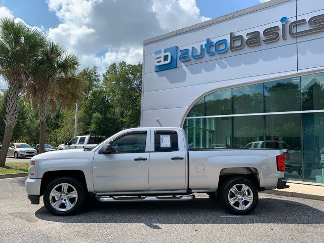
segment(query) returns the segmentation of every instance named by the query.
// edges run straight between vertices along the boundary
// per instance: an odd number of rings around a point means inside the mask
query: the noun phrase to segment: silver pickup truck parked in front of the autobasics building
[[[25,182],[31,204],[55,215],[99,201],[192,200],[218,197],[233,214],[248,214],[258,191],[282,189],[285,157],[280,149],[187,149],[181,128],[123,130],[90,151],[52,151],[30,159]]]

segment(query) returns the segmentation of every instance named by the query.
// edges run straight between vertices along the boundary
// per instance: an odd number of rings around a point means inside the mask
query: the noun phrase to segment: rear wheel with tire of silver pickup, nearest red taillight
[[[259,195],[253,182],[243,177],[237,177],[231,178],[223,184],[220,198],[230,213],[246,215],[257,206]]]

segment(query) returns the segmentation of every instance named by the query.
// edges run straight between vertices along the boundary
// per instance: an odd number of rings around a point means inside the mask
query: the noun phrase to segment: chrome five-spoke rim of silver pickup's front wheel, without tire
[[[77,201],[77,191],[69,183],[56,185],[50,193],[50,204],[58,211],[68,211],[72,209]]]

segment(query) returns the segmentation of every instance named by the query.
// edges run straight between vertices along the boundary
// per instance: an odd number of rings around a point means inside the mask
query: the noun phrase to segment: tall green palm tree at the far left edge
[[[6,129],[0,151],[0,167],[5,165],[9,144],[18,120],[18,98],[22,95],[29,72],[46,46],[42,31],[14,18],[0,19],[0,74],[8,83]]]

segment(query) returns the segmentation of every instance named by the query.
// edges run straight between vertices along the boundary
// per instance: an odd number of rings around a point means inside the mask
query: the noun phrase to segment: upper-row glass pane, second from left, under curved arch
[[[232,113],[232,90],[220,90],[205,97],[206,115],[229,115]]]

